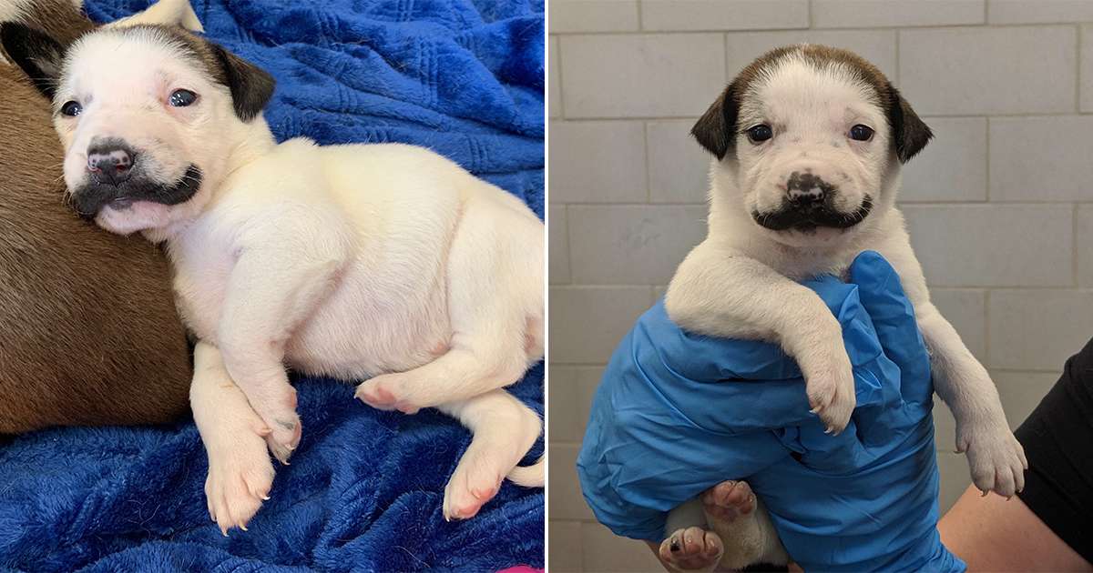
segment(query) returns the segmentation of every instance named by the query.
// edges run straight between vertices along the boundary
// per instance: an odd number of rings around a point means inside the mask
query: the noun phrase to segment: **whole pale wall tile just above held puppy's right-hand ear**
[[[1077,29],[900,32],[900,88],[919,115],[1072,111]]]

